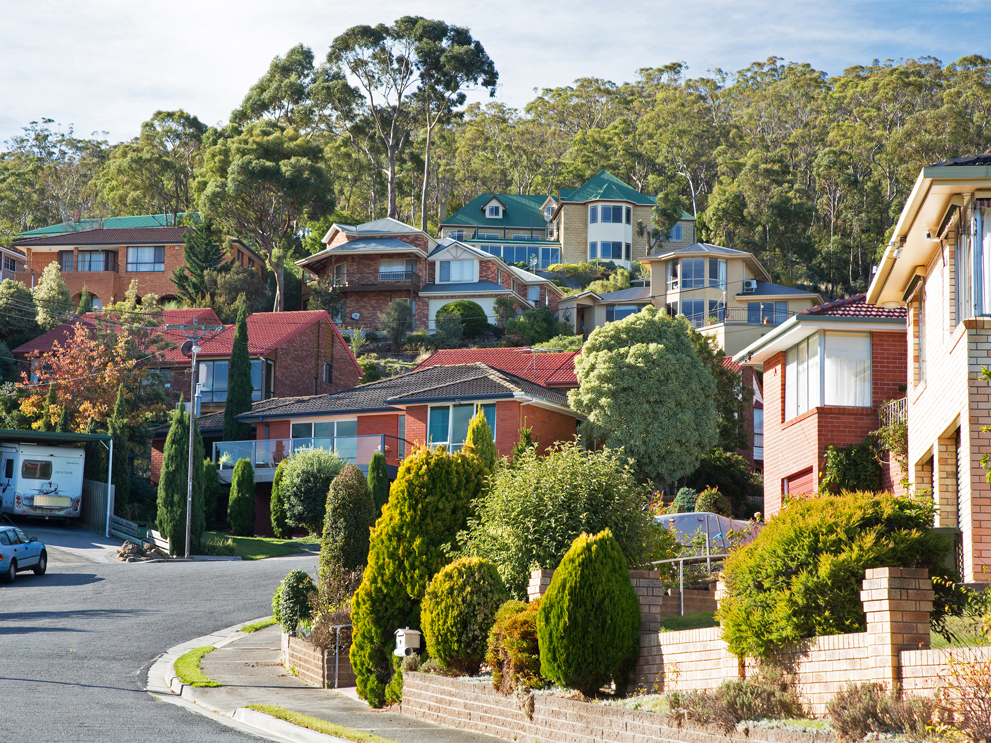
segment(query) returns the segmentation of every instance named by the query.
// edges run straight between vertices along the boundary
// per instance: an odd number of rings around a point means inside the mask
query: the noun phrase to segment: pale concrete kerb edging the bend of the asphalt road
[[[197,694],[198,690],[195,687],[183,683],[181,679],[175,676],[175,661],[179,656],[188,653],[194,648],[202,648],[206,645],[212,645],[215,648],[222,648],[225,645],[229,645],[235,640],[240,640],[242,637],[248,636],[249,633],[240,631],[241,627],[268,619],[269,616],[271,614],[247,622],[238,622],[225,629],[211,632],[209,635],[203,635],[202,637],[197,637],[170,647],[155,660],[152,667],[148,670],[148,681],[145,685],[145,690],[163,701],[178,704],[189,711],[211,717],[228,727],[234,727],[242,732],[248,732],[254,735],[262,735],[271,740],[279,741],[279,743],[351,743],[344,738],[318,733],[315,730],[280,720],[277,717],[272,717],[264,712],[248,709],[247,707],[217,709],[211,704],[206,703]]]

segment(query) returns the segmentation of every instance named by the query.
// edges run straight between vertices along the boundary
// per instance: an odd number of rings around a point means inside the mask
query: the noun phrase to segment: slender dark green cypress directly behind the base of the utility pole
[[[199,426],[193,434],[193,462],[203,461],[203,439]],[[185,553],[186,488],[189,484],[189,414],[181,407],[172,413],[172,424],[165,437],[162,476],[159,480],[159,531],[171,542],[173,555]],[[192,469],[192,524],[190,554],[200,547],[203,537],[203,468]]]

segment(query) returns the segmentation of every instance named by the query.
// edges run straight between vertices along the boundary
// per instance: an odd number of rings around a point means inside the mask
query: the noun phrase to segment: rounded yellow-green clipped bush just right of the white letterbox
[[[442,568],[420,607],[427,653],[445,669],[475,676],[505,599],[502,579],[488,560],[461,558]]]

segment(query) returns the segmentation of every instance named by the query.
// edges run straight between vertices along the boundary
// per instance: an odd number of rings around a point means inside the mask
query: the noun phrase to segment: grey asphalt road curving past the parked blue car
[[[142,565],[97,562],[101,549],[51,547],[45,576],[0,585],[3,737],[262,740],[154,698],[148,669],[173,645],[271,614],[278,582],[294,568],[312,573],[316,556]]]

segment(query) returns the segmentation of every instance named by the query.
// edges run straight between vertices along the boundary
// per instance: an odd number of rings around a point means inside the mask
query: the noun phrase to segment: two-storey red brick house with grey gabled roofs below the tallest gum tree
[[[393,299],[412,304],[415,328],[432,329],[437,310],[459,299],[478,302],[495,324],[499,296],[512,299],[519,311],[547,305],[554,312],[563,296],[550,279],[478,247],[449,238],[438,242],[388,217],[357,226],[334,224],[323,242],[325,250],[296,265],[344,294],[337,319],[345,328],[381,329],[382,311]]]

